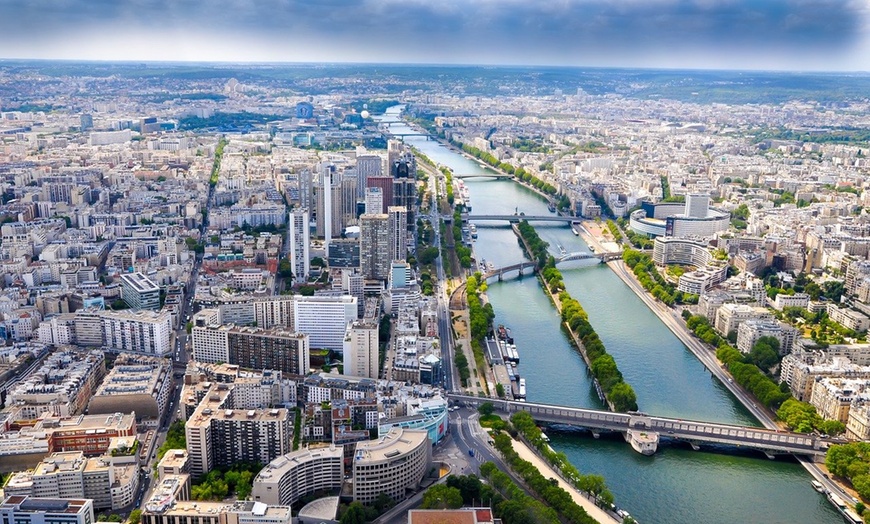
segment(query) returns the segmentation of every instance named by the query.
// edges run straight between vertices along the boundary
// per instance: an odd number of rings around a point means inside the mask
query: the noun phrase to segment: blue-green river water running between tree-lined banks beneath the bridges
[[[395,116],[396,113],[393,113]],[[389,118],[389,116],[388,116]],[[394,124],[398,131],[400,127]],[[454,173],[485,171],[434,141],[408,137]],[[548,213],[545,201],[511,181],[466,179],[474,214]],[[587,251],[570,228],[534,224],[554,255]],[[524,259],[507,224],[479,223],[475,253],[496,267]],[[595,261],[560,266],[565,285],[637,393],[640,409],[654,415],[760,425],[607,266]],[[601,408],[586,366],[561,331],[559,316],[532,276],[491,282],[487,291],[496,323],[509,326],[520,353],[528,399]],[[840,523],[842,517],[810,486],[810,476],[790,458],[760,453],[692,451],[663,441],[645,457],[614,437],[551,432],[551,445],[583,473],[604,476],[617,504],[650,523]]]

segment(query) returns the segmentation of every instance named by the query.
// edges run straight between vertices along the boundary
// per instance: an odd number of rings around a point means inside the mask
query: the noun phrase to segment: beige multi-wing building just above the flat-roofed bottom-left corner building
[[[121,509],[135,500],[139,488],[138,463],[113,464],[110,457],[85,458],[81,451],[58,452],[31,471],[16,473],[7,495],[42,498],[86,498],[98,509]]]

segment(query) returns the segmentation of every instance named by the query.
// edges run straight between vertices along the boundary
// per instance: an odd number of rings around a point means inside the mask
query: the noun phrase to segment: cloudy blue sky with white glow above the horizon
[[[870,71],[870,0],[0,0],[0,58]]]

